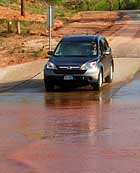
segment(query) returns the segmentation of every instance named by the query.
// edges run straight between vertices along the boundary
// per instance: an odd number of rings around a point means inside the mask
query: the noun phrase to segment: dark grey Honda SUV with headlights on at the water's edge
[[[92,85],[100,90],[103,82],[113,80],[114,62],[111,48],[101,35],[65,36],[49,51],[51,58],[44,68],[46,91],[54,86]]]

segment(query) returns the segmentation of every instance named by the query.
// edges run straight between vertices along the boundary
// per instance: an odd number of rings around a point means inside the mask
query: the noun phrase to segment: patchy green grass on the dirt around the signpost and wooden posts
[[[20,11],[20,1],[19,0],[0,0],[1,6],[8,6],[11,9]],[[75,10],[69,10],[65,6],[57,6],[54,8],[54,18],[62,19],[67,21],[67,18],[70,18]],[[40,14],[47,16],[48,13],[48,6],[46,2],[40,2],[40,3],[30,3],[25,1],[25,15],[26,13],[30,14]],[[47,21],[46,22],[37,22],[37,21],[20,21],[21,22],[21,34],[29,34],[30,31],[34,30],[46,30],[47,28]],[[2,33],[7,32],[7,25],[8,20],[6,19],[0,19],[0,35]],[[12,32],[16,33],[16,25],[17,20],[12,21]]]

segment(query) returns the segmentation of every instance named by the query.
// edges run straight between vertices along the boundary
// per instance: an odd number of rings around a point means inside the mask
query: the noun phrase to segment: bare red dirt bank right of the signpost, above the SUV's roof
[[[117,19],[118,12],[80,12],[70,20],[70,24],[54,32],[54,36],[61,38],[68,34],[101,34]]]

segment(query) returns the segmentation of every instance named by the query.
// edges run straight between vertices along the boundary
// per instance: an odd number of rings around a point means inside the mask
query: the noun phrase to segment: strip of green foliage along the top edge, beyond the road
[[[34,2],[34,3],[33,3]],[[25,0],[25,11],[43,14],[47,5],[63,6],[63,10],[118,10],[136,9],[140,7],[140,0]],[[20,0],[0,0],[0,6],[8,6],[20,10]]]

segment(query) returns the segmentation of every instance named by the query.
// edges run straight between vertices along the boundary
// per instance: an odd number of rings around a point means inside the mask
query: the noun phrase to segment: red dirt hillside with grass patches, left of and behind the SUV
[[[31,2],[30,2],[31,3]],[[46,7],[45,7],[46,8]],[[47,15],[20,11],[0,6],[0,67],[46,58],[48,51]],[[102,33],[119,18],[117,12],[78,12],[58,15],[53,28],[53,47],[66,34]],[[7,22],[12,20],[12,32]],[[21,21],[21,34],[16,34],[16,22]],[[88,28],[88,23],[92,28]]]

